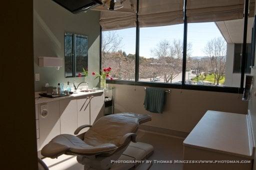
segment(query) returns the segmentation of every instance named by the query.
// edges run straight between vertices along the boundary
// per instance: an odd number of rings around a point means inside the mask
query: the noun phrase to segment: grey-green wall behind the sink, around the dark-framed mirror
[[[57,85],[67,81],[76,83],[84,78],[65,78],[64,67],[39,67],[38,56],[64,56],[64,32],[76,32],[88,35],[88,82],[95,86],[92,71],[99,70],[99,15],[98,11],[73,14],[52,0],[34,0],[34,72],[40,74],[40,81],[35,81],[35,91],[40,91],[46,82]],[[63,60],[64,65],[64,60]]]

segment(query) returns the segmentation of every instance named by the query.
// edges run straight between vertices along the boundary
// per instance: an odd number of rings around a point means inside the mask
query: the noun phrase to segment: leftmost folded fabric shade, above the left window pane
[[[99,24],[102,30],[135,27],[136,14],[116,11],[101,11]]]

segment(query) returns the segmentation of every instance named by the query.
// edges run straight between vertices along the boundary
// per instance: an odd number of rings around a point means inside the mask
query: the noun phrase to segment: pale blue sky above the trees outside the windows
[[[139,56],[154,57],[150,49],[160,40],[180,39],[183,42],[183,24],[143,27],[139,29]],[[135,53],[135,27],[114,30],[122,37],[122,50],[127,54]],[[103,36],[104,36],[103,31]],[[202,49],[210,39],[222,36],[214,22],[188,23],[187,42],[192,44],[191,56],[205,56]]]

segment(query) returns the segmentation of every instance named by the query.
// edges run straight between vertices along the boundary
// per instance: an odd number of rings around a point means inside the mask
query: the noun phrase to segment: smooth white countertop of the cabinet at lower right
[[[208,110],[183,145],[252,158],[248,131],[246,114]]]

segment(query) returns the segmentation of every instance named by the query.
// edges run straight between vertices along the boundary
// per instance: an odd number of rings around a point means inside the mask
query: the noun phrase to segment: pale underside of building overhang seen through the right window
[[[247,24],[247,43],[251,41],[251,28],[254,17],[248,18]],[[221,34],[227,43],[242,43],[243,42],[243,19],[234,19],[227,21],[215,22]]]

